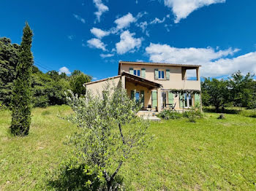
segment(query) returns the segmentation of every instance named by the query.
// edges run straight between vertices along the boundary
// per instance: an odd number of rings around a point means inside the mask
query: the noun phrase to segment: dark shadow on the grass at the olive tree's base
[[[99,182],[97,174],[87,174],[84,166],[85,164],[72,166],[72,168],[69,165],[62,167],[53,179],[48,181],[48,190],[105,190],[105,184]],[[90,186],[86,182],[91,182]],[[116,176],[113,184],[122,185],[122,182],[121,176]]]

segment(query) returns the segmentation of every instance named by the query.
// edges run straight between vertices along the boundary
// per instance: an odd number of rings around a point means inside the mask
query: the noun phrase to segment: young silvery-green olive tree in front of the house
[[[68,103],[74,114],[69,120],[80,130],[71,141],[78,149],[87,174],[96,174],[100,189],[113,190],[116,174],[128,158],[136,158],[147,147],[148,123],[136,116],[140,106],[126,90],[105,87],[103,95],[87,92],[84,98],[71,95]],[[88,186],[94,182],[87,182]]]

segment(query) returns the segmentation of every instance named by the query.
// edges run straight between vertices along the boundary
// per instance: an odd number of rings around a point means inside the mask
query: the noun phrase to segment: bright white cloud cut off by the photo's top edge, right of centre
[[[204,6],[211,4],[225,3],[226,0],[165,0],[165,6],[169,7],[173,11],[175,16],[174,23],[178,23],[181,19],[187,18],[187,16]]]

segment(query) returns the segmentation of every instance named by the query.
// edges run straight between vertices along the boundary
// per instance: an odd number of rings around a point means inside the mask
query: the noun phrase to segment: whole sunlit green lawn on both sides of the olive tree
[[[75,132],[61,120],[68,106],[34,109],[25,138],[8,135],[10,112],[0,111],[0,190],[42,190],[69,157]],[[197,122],[152,122],[151,142],[137,163],[121,168],[127,190],[256,190],[256,118],[206,113]]]

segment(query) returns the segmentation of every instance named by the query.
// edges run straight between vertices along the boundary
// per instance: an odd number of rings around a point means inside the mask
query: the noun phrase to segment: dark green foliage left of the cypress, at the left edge
[[[0,38],[0,101],[9,106],[12,98],[13,80],[18,63],[18,44],[12,44],[6,37]]]

